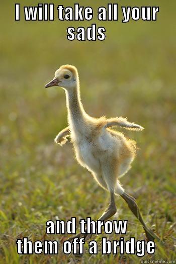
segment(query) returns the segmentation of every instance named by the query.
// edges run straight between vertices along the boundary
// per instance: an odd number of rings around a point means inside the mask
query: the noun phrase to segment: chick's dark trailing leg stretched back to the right
[[[131,210],[131,212],[137,217],[137,219],[141,222],[143,228],[144,228],[144,231],[145,231],[145,234],[146,234],[146,237],[148,240],[150,241],[154,241],[154,239],[156,239],[157,241],[163,243],[160,238],[154,234],[145,224],[143,218],[142,218],[142,215],[139,211],[139,207],[136,203],[136,200],[134,197],[130,196],[129,194],[127,194],[126,192],[124,192],[121,197],[125,200],[125,202],[128,204],[128,207],[129,209]]]

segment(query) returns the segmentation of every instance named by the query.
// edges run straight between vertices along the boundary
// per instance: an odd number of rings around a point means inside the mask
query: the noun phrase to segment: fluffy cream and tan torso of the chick
[[[130,168],[135,149],[132,141],[123,134],[106,129],[105,121],[105,118],[89,120],[83,128],[70,125],[71,141],[77,161],[94,175],[104,189],[115,188],[118,194],[120,190],[123,192],[118,178]],[[106,170],[111,170],[108,177],[104,174],[105,166]],[[109,178],[112,178],[110,182]]]

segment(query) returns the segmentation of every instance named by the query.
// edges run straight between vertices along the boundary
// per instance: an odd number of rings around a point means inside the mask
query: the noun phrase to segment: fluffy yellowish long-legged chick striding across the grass
[[[147,239],[160,240],[146,226],[135,199],[125,192],[119,181],[130,169],[135,158],[136,144],[112,127],[120,126],[130,130],[143,130],[143,127],[123,117],[93,118],[85,113],[80,100],[78,72],[72,65],[63,65],[57,69],[54,79],[45,88],[51,86],[60,86],[65,90],[68,112],[68,127],[58,133],[55,142],[62,146],[70,136],[78,163],[89,170],[97,183],[110,193],[110,204],[99,220],[106,221],[116,213],[115,195],[119,195],[142,224]],[[80,236],[86,237],[86,234],[75,237]]]

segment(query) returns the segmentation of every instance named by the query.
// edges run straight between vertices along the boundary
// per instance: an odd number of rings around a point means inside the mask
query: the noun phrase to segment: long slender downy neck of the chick
[[[86,113],[80,100],[79,84],[71,91],[66,93],[66,106],[68,111],[69,124],[79,125],[85,120]]]

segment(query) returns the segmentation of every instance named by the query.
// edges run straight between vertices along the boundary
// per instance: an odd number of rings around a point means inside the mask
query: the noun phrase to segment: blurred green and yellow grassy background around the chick
[[[23,6],[36,1],[18,1]],[[40,3],[46,3],[40,1]],[[48,2],[53,3],[53,2]],[[113,2],[111,2],[113,3]],[[116,2],[114,2],[116,3]],[[156,22],[97,22],[106,28],[105,41],[67,41],[69,26],[90,22],[15,22],[15,2],[1,2],[0,61],[0,263],[137,263],[175,259],[175,133],[176,133],[176,2],[119,1],[123,6],[159,6]],[[106,1],[83,1],[95,10]],[[94,17],[96,18],[96,11]],[[96,220],[108,194],[74,160],[71,144],[59,147],[57,133],[67,125],[65,95],[44,85],[62,64],[73,64],[80,76],[87,113],[128,117],[143,132],[123,131],[137,141],[137,158],[122,178],[137,198],[147,224],[165,241],[154,255],[18,255],[16,239],[62,241],[45,234],[47,220],[71,217]],[[126,204],[117,198],[114,219],[128,220],[126,239],[145,238]],[[106,235],[119,239],[117,235]],[[96,239],[101,249],[101,237]]]

